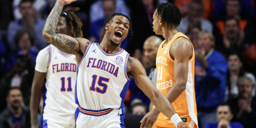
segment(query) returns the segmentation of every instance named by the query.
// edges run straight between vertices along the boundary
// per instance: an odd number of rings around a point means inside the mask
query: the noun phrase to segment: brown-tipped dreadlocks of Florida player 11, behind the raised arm
[[[71,27],[71,33],[73,37],[83,37],[82,26],[83,23],[81,22],[80,18],[77,17],[75,11],[80,10],[77,8],[69,8],[67,10],[63,10],[60,16],[65,17],[67,21],[67,26]]]

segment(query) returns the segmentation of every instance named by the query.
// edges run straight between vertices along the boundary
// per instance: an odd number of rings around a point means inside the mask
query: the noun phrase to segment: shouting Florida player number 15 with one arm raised
[[[131,29],[130,19],[126,15],[115,13],[106,19],[100,44],[55,32],[63,6],[73,1],[57,0],[46,19],[43,38],[61,51],[76,56],[76,127],[124,128],[124,98],[132,76],[160,111],[178,128],[186,128],[171,103],[147,77],[142,64],[120,48]]]

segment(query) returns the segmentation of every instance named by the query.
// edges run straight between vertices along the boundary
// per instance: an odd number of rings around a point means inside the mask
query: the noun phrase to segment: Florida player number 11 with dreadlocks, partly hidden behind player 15
[[[56,33],[71,37],[83,37],[82,23],[71,8],[60,13],[56,22]],[[31,126],[38,128],[37,112],[41,97],[41,88],[46,77],[46,90],[43,94],[43,128],[75,127],[75,55],[65,54],[54,45],[42,49],[36,60],[35,74],[30,101]]]

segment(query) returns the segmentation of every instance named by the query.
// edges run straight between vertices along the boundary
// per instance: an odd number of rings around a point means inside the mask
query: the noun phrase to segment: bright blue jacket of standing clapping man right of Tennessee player
[[[208,67],[195,61],[195,93],[198,111],[212,112],[224,101],[228,63],[212,49],[205,57]]]

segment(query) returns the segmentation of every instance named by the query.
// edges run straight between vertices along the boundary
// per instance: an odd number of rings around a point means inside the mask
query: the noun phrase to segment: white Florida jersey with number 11
[[[49,45],[42,49],[36,60],[35,70],[46,72],[44,91],[44,120],[74,123],[76,58]]]

